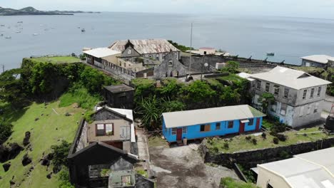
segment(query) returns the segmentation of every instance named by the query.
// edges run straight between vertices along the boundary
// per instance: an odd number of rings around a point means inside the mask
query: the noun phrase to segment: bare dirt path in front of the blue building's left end
[[[191,147],[150,147],[151,169],[156,172],[157,187],[218,187],[221,177],[238,179],[233,170],[204,164]]]

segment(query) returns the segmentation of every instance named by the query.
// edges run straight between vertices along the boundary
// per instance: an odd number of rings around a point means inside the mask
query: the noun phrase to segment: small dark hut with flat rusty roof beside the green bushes
[[[128,85],[109,85],[103,87],[104,98],[112,108],[133,108],[134,88]]]

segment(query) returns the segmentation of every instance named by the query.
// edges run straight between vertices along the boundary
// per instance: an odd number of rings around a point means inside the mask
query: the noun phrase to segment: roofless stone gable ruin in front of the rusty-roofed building
[[[168,53],[163,62],[154,67],[153,78],[161,79],[166,77],[183,77],[187,74],[186,66],[178,61],[175,53]]]

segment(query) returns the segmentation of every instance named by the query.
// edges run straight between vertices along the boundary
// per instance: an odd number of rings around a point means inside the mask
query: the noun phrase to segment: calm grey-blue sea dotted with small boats
[[[300,56],[334,56],[334,19],[102,13],[0,16],[0,25],[4,25],[0,26],[0,65],[17,68],[24,57],[79,54],[84,47],[109,46],[115,40],[128,38],[166,38],[190,46],[191,22],[195,48],[214,47],[258,59],[274,52],[275,56],[268,60],[295,65],[300,64]],[[81,28],[86,32],[82,33]]]

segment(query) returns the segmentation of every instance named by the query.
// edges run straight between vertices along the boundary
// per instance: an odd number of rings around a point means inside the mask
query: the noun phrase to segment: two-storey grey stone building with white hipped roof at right
[[[298,127],[320,120],[329,81],[279,66],[249,78],[255,79],[251,82],[255,108],[261,108],[260,95],[273,93],[275,103],[269,105],[268,113],[280,122]]]

